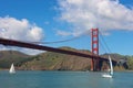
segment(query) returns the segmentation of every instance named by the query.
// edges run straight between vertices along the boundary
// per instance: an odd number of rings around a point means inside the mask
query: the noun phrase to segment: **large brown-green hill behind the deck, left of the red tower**
[[[71,47],[61,47],[68,51],[78,51]],[[89,51],[78,51],[90,53]],[[27,62],[21,69],[31,70],[88,70],[90,59],[79,56],[47,52],[33,57],[33,61]]]

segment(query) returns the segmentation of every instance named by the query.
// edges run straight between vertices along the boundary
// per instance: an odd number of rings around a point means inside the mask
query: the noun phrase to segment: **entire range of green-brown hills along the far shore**
[[[60,48],[91,54],[90,51],[85,50],[75,50],[71,47]],[[108,57],[108,55],[109,54],[104,54],[101,56]],[[119,63],[114,65],[115,70],[133,69],[133,56],[124,56],[120,54],[110,55],[113,59],[119,61]],[[90,70],[91,59],[52,52],[29,56],[17,51],[1,51],[0,68],[9,68],[11,63],[14,63],[16,68],[24,70]],[[108,63],[102,63],[101,68],[104,68],[106,65]]]

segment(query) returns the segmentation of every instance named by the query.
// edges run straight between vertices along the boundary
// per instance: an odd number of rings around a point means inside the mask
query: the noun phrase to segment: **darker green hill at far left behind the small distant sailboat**
[[[19,66],[28,59],[30,59],[29,55],[17,51],[0,51],[0,68],[9,68],[11,63]]]

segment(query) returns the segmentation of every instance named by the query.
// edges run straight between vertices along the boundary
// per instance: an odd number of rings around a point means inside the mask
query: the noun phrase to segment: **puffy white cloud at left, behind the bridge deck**
[[[16,18],[0,18],[0,37],[24,41],[40,42],[43,37],[43,31],[35,24],[29,23],[27,19],[18,20]],[[1,47],[8,50],[8,47]],[[40,53],[28,48],[16,48],[28,54]],[[32,52],[33,51],[33,52]]]

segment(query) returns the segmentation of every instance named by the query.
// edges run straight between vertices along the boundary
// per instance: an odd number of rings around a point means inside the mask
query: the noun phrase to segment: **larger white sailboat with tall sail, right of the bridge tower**
[[[112,65],[111,56],[109,56],[109,63],[110,63],[109,73],[102,75],[102,77],[104,77],[104,78],[112,78],[113,77],[113,65]]]

